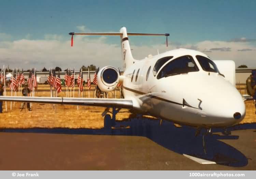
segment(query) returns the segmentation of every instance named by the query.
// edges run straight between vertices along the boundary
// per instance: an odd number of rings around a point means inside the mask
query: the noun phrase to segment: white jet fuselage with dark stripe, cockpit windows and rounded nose
[[[245,117],[243,99],[208,60],[188,49],[134,60],[123,74],[124,97],[141,113],[175,123],[200,128],[235,125]]]

